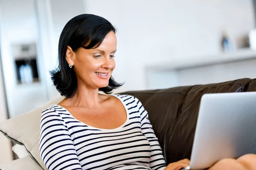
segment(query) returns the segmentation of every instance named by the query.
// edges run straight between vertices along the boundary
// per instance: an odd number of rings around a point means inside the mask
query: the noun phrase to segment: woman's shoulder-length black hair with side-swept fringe
[[[97,48],[106,35],[116,29],[105,18],[93,14],[81,14],[72,18],[63,28],[58,44],[58,67],[50,71],[51,79],[61,96],[72,97],[77,91],[77,77],[73,68],[69,68],[66,60],[66,49],[69,45],[73,51],[83,47]],[[109,79],[107,87],[99,88],[106,94],[120,87],[113,77]]]

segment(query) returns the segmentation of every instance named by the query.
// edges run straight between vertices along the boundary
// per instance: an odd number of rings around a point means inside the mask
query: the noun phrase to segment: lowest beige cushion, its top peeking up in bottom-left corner
[[[29,155],[0,165],[0,170],[43,170]]]

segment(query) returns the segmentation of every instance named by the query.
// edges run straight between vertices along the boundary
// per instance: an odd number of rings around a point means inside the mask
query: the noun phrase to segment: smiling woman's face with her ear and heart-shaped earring
[[[84,83],[87,88],[108,86],[108,81],[116,66],[114,60],[116,43],[116,35],[111,31],[97,48],[79,48],[73,52],[68,46],[66,59],[68,64],[74,66],[78,82]]]

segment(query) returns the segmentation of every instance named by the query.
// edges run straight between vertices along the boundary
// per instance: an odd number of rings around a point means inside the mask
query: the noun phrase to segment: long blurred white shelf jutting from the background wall
[[[243,49],[218,55],[204,57],[186,57],[181,59],[173,59],[165,63],[149,65],[147,69],[164,71],[164,70],[183,70],[187,68],[204,67],[207,65],[223,64],[228,62],[238,62],[249,59],[256,59],[256,51],[251,49]]]

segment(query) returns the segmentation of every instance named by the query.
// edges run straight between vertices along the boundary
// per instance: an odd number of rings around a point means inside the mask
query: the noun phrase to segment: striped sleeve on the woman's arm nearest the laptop
[[[148,119],[148,112],[144,109],[142,103],[139,100],[138,100],[138,107],[139,107],[139,113],[140,113],[142,133],[147,137],[151,145],[151,156],[149,161],[149,167],[152,170],[164,170],[166,167],[166,161],[163,157],[163,151],[160,147],[158,139]]]

